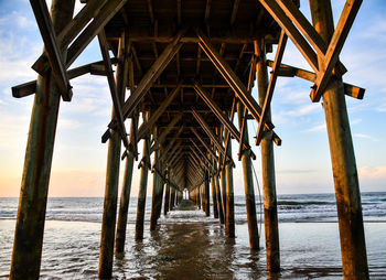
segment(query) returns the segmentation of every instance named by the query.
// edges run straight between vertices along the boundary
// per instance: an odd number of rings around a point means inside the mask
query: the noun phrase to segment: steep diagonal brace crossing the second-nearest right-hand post
[[[278,44],[278,50],[276,52],[275,63],[272,66],[272,72],[271,72],[269,84],[267,87],[266,99],[265,99],[264,106],[262,106],[260,122],[259,122],[259,126],[257,129],[257,134],[256,134],[256,144],[257,146],[260,144],[262,130],[264,130],[264,123],[266,122],[268,112],[270,111],[270,103],[272,100],[276,80],[278,78],[278,73],[279,73],[279,68],[281,65],[282,56],[285,54],[286,45],[287,45],[287,34],[283,31],[281,31],[279,44]]]

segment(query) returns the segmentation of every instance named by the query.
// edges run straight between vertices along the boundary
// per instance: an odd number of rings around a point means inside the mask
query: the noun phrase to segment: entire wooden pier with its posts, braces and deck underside
[[[53,0],[51,15],[44,0],[30,2],[44,51],[32,66],[37,79],[12,88],[17,98],[34,95],[34,106],[10,279],[40,276],[58,107],[61,99],[71,101],[77,94],[71,79],[85,74],[106,76],[112,100],[111,120],[106,120],[107,130],[101,134],[101,141],[108,142],[108,155],[99,278],[112,277],[114,251],[125,251],[135,165],[141,173],[136,239],[143,238],[143,230],[157,230],[162,205],[168,215],[181,203],[184,190],[197,208],[206,216],[213,212],[224,225],[224,238],[235,238],[233,172],[234,161],[242,161],[249,244],[259,249],[251,173],[256,155],[249,143],[248,120],[258,125],[255,144],[261,147],[267,270],[280,271],[274,149],[281,139],[274,131],[270,103],[277,79],[286,76],[309,80],[310,101],[323,101],[343,274],[345,279],[368,279],[345,105],[345,96],[362,99],[364,89],[343,82],[347,69],[339,60],[362,0],[346,0],[336,28],[330,0],[310,1],[312,23],[296,0],[82,0],[84,7],[75,17],[75,0]],[[103,61],[71,68],[95,37]],[[288,39],[312,72],[281,63]],[[271,62],[266,54],[272,52],[272,45],[277,49]],[[255,83],[258,100],[251,95]],[[238,144],[238,159],[233,158],[232,141]],[[126,165],[118,208],[121,161]],[[143,222],[149,172],[153,184],[148,229]]]

